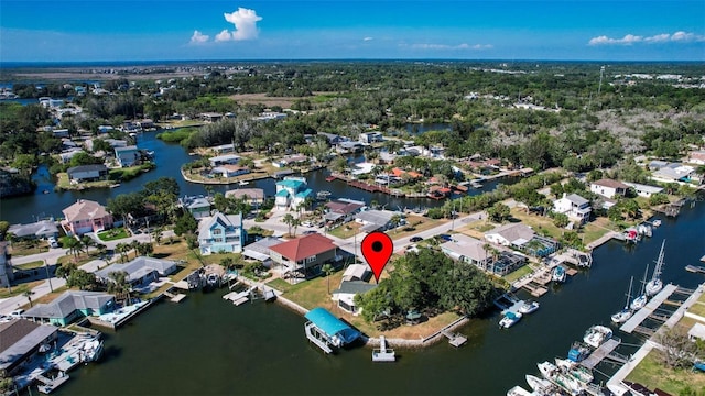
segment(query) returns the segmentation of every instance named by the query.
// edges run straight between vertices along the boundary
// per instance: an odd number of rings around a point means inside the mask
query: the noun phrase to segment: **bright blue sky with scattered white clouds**
[[[698,1],[0,0],[0,61],[705,61]]]

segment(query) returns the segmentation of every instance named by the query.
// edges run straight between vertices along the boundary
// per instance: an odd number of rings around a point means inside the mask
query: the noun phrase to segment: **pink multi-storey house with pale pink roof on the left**
[[[106,208],[88,199],[78,199],[76,204],[62,210],[61,224],[68,235],[83,235],[86,232],[99,232],[112,228],[112,216]]]

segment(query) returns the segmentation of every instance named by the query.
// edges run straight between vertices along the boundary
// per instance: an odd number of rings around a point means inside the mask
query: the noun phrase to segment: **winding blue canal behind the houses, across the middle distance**
[[[145,132],[138,135],[137,145],[140,148],[150,150],[155,153],[154,162],[156,168],[140,175],[128,182],[122,182],[116,188],[98,188],[88,190],[68,190],[54,191],[55,182],[52,180],[46,167],[41,166],[34,174],[33,179],[37,183],[37,188],[33,195],[21,197],[9,197],[0,200],[0,219],[10,223],[26,223],[35,221],[39,218],[53,216],[62,217],[62,210],[78,199],[90,199],[100,204],[107,204],[108,198],[118,194],[132,193],[142,188],[144,183],[155,180],[160,177],[173,177],[178,180],[181,195],[206,195],[204,185],[185,182],[181,176],[181,166],[185,163],[197,160],[198,156],[189,156],[188,153],[178,144],[165,143],[156,139],[158,132]],[[355,160],[355,158],[351,158]],[[359,158],[358,158],[359,160]],[[443,205],[443,201],[426,198],[398,198],[390,197],[380,193],[367,193],[356,188],[349,188],[340,180],[326,182],[325,178],[330,172],[328,169],[319,169],[306,174],[308,186],[314,191],[328,190],[332,197],[345,197],[350,199],[364,200],[370,202],[377,200],[379,205],[387,205],[387,209],[399,209],[417,206],[434,207]],[[494,189],[498,183],[511,184],[517,178],[505,178],[501,182],[492,180],[486,183],[482,189],[470,189],[469,194],[480,194],[482,190]],[[248,187],[259,187],[264,189],[264,194],[273,196],[275,193],[276,180],[272,178],[261,179],[251,183]],[[237,184],[232,185],[212,185],[215,193],[225,193],[228,189],[238,188]],[[44,191],[48,191],[44,194]]]

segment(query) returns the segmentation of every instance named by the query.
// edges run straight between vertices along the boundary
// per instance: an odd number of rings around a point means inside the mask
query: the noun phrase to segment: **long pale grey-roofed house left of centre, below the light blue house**
[[[124,272],[130,285],[140,286],[154,282],[160,276],[167,276],[174,271],[176,271],[176,262],[172,260],[139,256],[127,263],[110,264],[102,270],[96,271],[96,278],[107,284],[115,282],[110,277],[110,273]]]

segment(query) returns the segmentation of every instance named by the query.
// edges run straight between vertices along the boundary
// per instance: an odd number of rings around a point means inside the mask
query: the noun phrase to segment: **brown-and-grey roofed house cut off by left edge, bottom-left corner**
[[[43,326],[26,319],[0,323],[0,377],[7,378],[40,353],[40,346],[51,345],[58,336],[54,326]]]

